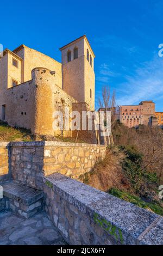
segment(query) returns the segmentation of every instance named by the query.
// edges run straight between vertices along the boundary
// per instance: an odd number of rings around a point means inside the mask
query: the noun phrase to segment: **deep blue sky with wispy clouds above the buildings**
[[[15,0],[1,2],[0,20],[4,48],[24,44],[59,62],[59,47],[86,34],[96,54],[96,100],[110,86],[117,105],[153,100],[163,111],[163,0]]]

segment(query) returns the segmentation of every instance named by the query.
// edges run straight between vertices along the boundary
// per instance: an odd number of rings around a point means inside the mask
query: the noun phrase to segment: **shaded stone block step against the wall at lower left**
[[[5,209],[11,210],[26,218],[32,217],[43,209],[43,192],[32,187],[23,186],[11,181],[3,184]]]

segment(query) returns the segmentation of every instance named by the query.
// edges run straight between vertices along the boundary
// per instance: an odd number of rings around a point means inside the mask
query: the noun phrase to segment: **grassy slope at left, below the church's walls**
[[[0,141],[32,141],[30,130],[14,128],[0,121]]]

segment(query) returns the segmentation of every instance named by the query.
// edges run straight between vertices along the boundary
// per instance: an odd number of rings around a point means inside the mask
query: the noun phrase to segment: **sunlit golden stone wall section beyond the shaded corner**
[[[45,175],[59,172],[72,178],[89,172],[105,156],[106,147],[86,143],[46,142],[43,170]]]

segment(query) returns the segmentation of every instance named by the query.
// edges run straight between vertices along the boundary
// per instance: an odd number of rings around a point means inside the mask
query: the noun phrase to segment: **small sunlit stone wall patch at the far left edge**
[[[9,178],[10,149],[8,142],[0,142],[0,181]]]

